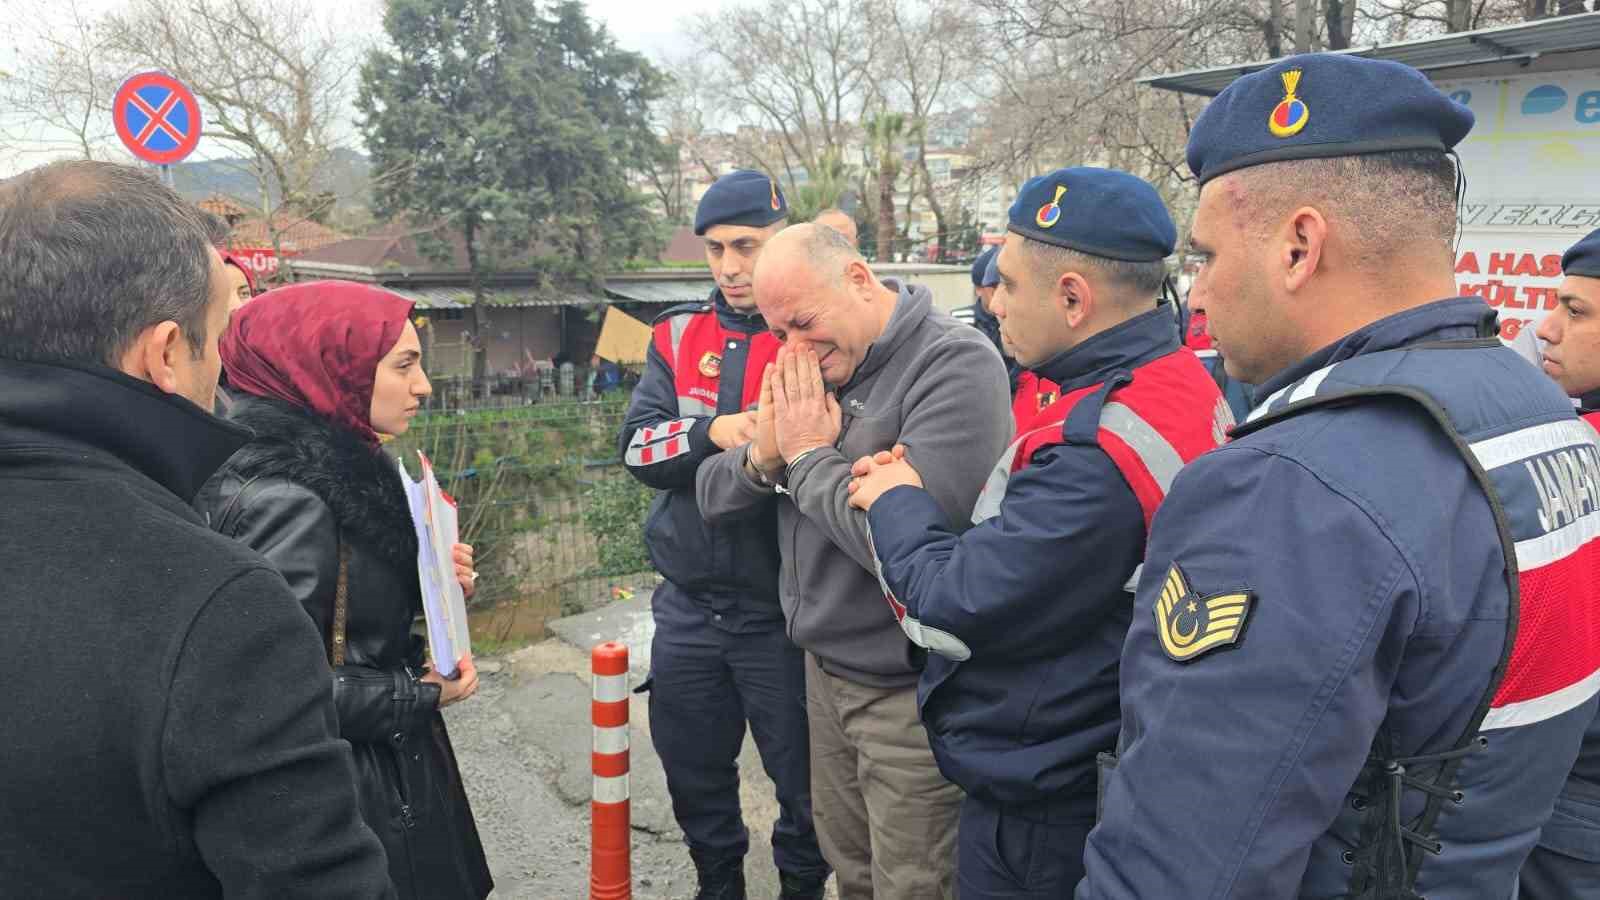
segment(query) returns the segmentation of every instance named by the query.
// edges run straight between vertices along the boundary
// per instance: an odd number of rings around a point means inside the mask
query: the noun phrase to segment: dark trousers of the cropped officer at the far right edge
[[[1600,898],[1600,786],[1568,778],[1522,865],[1517,900],[1590,897]]]

